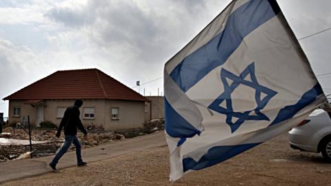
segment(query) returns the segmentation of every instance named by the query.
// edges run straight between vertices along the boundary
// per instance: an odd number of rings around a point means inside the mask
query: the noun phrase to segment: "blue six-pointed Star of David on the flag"
[[[235,132],[240,127],[240,125],[243,124],[243,122],[248,120],[270,121],[268,116],[265,116],[261,110],[265,107],[265,105],[268,104],[270,99],[272,99],[272,97],[277,94],[277,92],[269,89],[268,87],[260,85],[259,82],[257,82],[257,77],[255,76],[254,71],[254,62],[250,63],[250,65],[248,65],[248,67],[245,68],[245,70],[243,70],[239,76],[232,74],[232,72],[229,72],[224,68],[221,70],[221,81],[223,82],[224,92],[209,105],[209,108],[226,115],[226,123],[230,126],[232,133]],[[246,77],[248,77],[247,79],[250,77],[250,80],[247,80]],[[229,83],[228,80],[230,80],[231,83]],[[248,87],[252,87],[255,90],[254,97],[257,103],[257,107],[253,110],[247,110],[245,112],[234,112],[232,107],[231,94],[237,87],[239,87],[239,85],[246,85]],[[264,96],[263,98],[261,98],[262,94]],[[223,101],[225,101],[226,107],[221,106]],[[232,118],[237,119],[237,121],[232,122]]]

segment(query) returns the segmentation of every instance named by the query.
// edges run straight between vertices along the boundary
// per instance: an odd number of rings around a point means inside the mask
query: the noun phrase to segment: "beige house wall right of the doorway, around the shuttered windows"
[[[48,100],[45,102],[47,110],[45,118],[59,125],[61,118],[57,118],[57,107],[69,107],[74,100]],[[94,118],[84,118],[84,107],[94,107]],[[119,108],[119,119],[112,119],[112,107]],[[81,110],[81,123],[84,126],[102,125],[105,130],[119,130],[142,127],[143,102],[115,101],[104,99],[84,99]]]

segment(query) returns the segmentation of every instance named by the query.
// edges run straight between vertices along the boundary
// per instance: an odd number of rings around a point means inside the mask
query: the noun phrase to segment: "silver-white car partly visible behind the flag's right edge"
[[[317,109],[289,133],[292,149],[307,152],[321,152],[331,163],[331,119],[328,112]]]

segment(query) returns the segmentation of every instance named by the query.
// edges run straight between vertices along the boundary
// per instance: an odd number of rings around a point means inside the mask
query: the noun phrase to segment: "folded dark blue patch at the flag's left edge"
[[[200,135],[201,132],[179,115],[168,103],[167,99],[164,99],[164,107],[165,132],[173,138],[181,138],[179,145],[185,141],[185,138],[192,138],[195,134]]]

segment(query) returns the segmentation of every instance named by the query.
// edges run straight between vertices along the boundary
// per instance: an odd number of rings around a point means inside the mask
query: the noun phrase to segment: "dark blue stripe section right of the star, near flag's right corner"
[[[301,99],[296,104],[283,107],[279,111],[277,117],[274,119],[274,121],[270,125],[274,125],[274,124],[280,123],[281,121],[285,121],[289,118],[292,118],[303,107],[305,107],[305,106],[309,105],[310,103],[312,103],[313,101],[315,101],[317,96],[319,96],[320,94],[323,94],[323,90],[322,90],[321,85],[319,85],[319,83],[317,83],[316,85],[314,85],[314,87],[312,87],[311,90],[308,90],[308,92],[305,92],[305,94],[303,94],[301,96]]]

